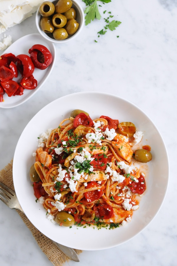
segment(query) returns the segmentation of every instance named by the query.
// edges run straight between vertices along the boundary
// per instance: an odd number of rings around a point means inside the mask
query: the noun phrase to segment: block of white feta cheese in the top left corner
[[[0,0],[0,33],[32,16],[44,0]]]

